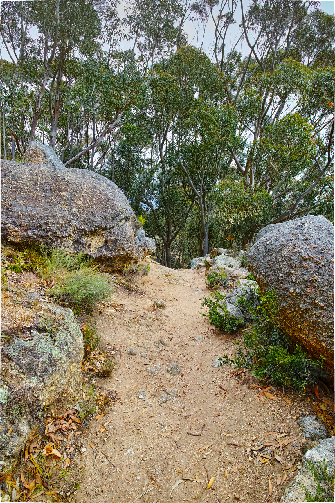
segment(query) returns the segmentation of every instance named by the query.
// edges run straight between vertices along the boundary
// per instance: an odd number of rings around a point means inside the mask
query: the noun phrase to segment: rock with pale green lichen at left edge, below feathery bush
[[[19,296],[24,297],[24,292]],[[41,299],[26,293],[25,302],[36,305]],[[55,414],[63,413],[82,391],[84,347],[71,309],[45,306],[38,326],[29,340],[13,337],[2,351],[0,443],[1,461],[6,469],[16,464],[36,424],[43,431],[43,409],[50,407]]]

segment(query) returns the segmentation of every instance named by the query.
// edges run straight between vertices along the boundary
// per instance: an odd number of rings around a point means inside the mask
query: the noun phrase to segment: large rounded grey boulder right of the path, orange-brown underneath
[[[322,216],[262,229],[247,253],[263,294],[274,290],[278,322],[292,347],[334,367],[334,227]]]

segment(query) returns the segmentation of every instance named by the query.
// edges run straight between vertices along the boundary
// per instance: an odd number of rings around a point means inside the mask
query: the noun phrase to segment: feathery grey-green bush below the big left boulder
[[[107,276],[99,273],[92,260],[82,253],[70,255],[64,248],[50,250],[44,268],[38,271],[46,295],[73,309],[91,311],[96,302],[112,293]]]

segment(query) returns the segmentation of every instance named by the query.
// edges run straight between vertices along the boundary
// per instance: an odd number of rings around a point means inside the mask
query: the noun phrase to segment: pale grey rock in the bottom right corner
[[[327,464],[327,474],[331,477],[334,476],[334,437],[330,439],[321,440],[319,445],[314,449],[307,451],[302,458],[302,468],[297,476],[294,478],[293,482],[288,484],[286,487],[281,501],[287,502],[302,502],[306,501],[306,494],[301,488],[299,483],[304,486],[312,495],[316,492],[317,484],[319,483],[321,489],[324,492],[323,501],[333,501],[334,494],[331,490],[330,484],[325,481],[316,482],[314,476],[310,470],[307,469],[308,461],[316,468],[319,475],[321,475],[320,465],[323,464],[325,459]]]

